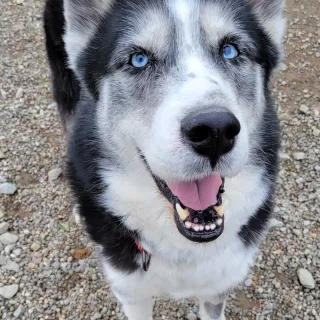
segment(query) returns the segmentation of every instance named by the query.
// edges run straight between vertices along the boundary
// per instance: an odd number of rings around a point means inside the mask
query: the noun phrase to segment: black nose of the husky
[[[181,131],[184,141],[215,165],[219,156],[233,148],[240,123],[228,111],[193,113],[183,119]]]

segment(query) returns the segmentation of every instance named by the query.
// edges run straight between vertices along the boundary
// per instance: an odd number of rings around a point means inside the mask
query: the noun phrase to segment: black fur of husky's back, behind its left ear
[[[80,99],[80,84],[67,67],[68,57],[62,39],[65,26],[63,0],[47,0],[44,10],[46,49],[50,63],[53,96],[64,126]]]

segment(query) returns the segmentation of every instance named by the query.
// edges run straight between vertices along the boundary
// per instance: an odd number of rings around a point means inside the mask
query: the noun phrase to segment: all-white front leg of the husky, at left
[[[122,304],[123,311],[129,320],[152,320],[152,297],[132,297],[113,291],[118,301]]]

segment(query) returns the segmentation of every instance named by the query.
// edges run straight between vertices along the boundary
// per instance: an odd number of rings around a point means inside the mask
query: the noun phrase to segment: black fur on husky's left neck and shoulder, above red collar
[[[80,205],[91,238],[103,247],[108,261],[117,269],[133,272],[138,268],[136,255],[139,254],[135,240],[139,236],[129,231],[122,221],[99,205],[101,193],[107,185],[98,174],[99,161],[108,163],[112,155],[102,153],[101,142],[95,134],[92,123],[95,104],[81,101],[77,106],[75,127],[69,142],[69,181]]]

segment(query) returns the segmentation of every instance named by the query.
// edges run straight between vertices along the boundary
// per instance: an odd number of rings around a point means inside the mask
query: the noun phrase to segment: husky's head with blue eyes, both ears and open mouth
[[[97,100],[106,143],[141,154],[182,221],[205,212],[219,201],[221,178],[250,161],[279,60],[282,1],[65,0],[65,7],[70,65]]]

